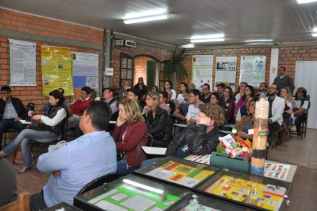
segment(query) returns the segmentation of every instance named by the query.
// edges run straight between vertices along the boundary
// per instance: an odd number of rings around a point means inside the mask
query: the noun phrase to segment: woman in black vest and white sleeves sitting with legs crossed
[[[0,152],[0,157],[12,154],[21,144],[23,155],[23,168],[17,173],[24,173],[32,167],[30,144],[35,142],[50,143],[57,140],[61,134],[61,127],[67,121],[67,112],[64,109],[64,96],[58,90],[49,93],[50,106],[45,115],[35,115],[32,124],[27,126],[13,142]]]

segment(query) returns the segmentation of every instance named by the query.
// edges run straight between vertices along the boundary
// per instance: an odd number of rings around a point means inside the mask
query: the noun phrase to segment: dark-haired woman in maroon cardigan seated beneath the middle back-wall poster
[[[226,108],[226,117],[228,123],[230,124],[235,117],[235,98],[233,97],[233,89],[231,89],[231,87],[225,87],[223,89],[223,96],[221,96],[220,105]]]

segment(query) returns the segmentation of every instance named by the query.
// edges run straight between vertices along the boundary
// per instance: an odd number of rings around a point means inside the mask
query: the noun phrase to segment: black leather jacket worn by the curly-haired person
[[[196,122],[187,126],[182,133],[174,136],[168,145],[165,157],[175,157],[176,150],[189,140],[189,152],[191,154],[211,154],[216,150],[216,146],[219,144],[219,137],[223,137],[223,134],[218,127],[208,133],[206,133],[206,129],[207,126],[205,124],[197,126]]]

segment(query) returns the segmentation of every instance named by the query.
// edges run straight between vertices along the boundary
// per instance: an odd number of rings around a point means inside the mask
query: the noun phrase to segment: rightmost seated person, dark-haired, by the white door
[[[301,122],[307,120],[306,112],[311,104],[309,99],[307,99],[307,90],[304,87],[300,87],[297,89],[294,101],[296,103],[296,108],[294,109],[294,123],[297,129],[297,136],[302,136]]]

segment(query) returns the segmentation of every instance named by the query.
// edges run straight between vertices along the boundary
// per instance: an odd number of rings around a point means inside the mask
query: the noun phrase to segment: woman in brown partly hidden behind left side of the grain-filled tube
[[[244,139],[253,140],[253,134],[249,134],[249,129],[253,129],[254,126],[254,115],[256,112],[256,99],[252,99],[249,102],[249,115],[244,115],[240,122],[235,124],[237,129],[237,135]]]

